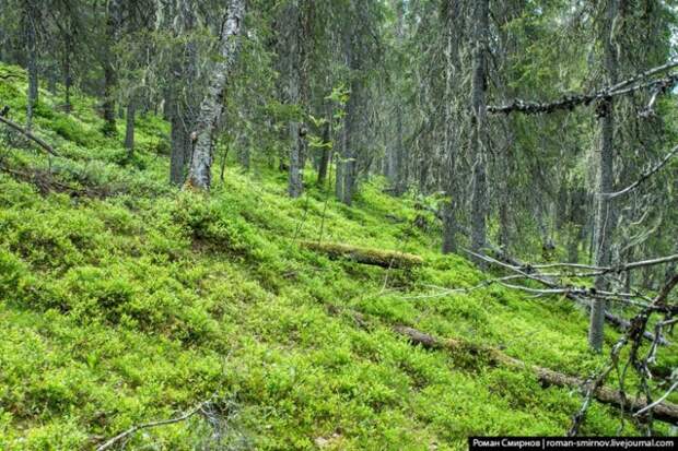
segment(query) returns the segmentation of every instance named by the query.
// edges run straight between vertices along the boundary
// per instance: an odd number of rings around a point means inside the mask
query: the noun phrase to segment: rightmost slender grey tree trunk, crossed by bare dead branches
[[[606,24],[604,33],[604,58],[606,83],[617,83],[617,50],[612,39],[612,23],[617,17],[618,0],[607,0]],[[598,105],[598,123],[600,127],[600,143],[596,154],[597,187],[596,187],[596,216],[594,225],[594,258],[596,266],[608,266],[611,261],[611,241],[615,232],[615,214],[612,201],[600,193],[612,192],[613,177],[613,135],[615,117],[612,99],[603,99]],[[604,276],[595,280],[598,290],[607,288]],[[605,325],[605,300],[595,300],[591,309],[591,324],[588,344],[596,351],[603,351]]]

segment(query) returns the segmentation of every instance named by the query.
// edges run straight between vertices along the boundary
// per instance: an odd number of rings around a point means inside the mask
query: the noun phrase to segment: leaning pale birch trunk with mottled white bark
[[[212,179],[213,132],[223,110],[223,96],[229,75],[238,52],[238,35],[245,16],[245,0],[229,1],[229,16],[223,26],[219,52],[221,60],[214,64],[209,87],[196,121],[196,145],[187,185],[209,190]]]

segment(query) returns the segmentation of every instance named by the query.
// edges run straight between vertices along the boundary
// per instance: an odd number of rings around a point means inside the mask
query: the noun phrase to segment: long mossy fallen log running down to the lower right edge
[[[391,329],[398,335],[407,337],[410,343],[421,345],[426,349],[471,352],[476,355],[483,355],[498,365],[503,365],[508,368],[530,370],[537,376],[539,382],[545,385],[586,389],[586,387],[591,383],[584,379],[563,375],[562,372],[553,371],[549,368],[525,364],[523,360],[511,357],[493,347],[480,346],[458,339],[441,340],[433,335],[418,331],[417,329],[405,325],[396,325]],[[599,387],[596,389],[594,392],[594,397],[603,404],[613,405],[629,413],[639,413],[646,410],[648,406],[647,400],[644,396],[626,396],[620,391],[608,387]],[[652,411],[653,418],[655,419],[678,425],[678,405],[676,404],[662,402],[655,404],[647,411]]]

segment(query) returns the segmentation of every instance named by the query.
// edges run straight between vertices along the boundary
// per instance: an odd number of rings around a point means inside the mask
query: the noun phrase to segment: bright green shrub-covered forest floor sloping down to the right
[[[0,73],[12,75],[0,103],[22,122],[25,75]],[[0,130],[0,449],[94,449],[207,401],[209,416],[144,429],[128,447],[445,450],[471,435],[566,431],[576,390],[391,330],[581,377],[604,361],[570,301],[496,285],[443,293],[491,275],[440,254],[440,226],[418,200],[364,183],[349,207],[311,173],[306,194],[290,200],[287,174],[231,162],[209,195],[179,191],[167,185],[166,122],[138,119],[128,162],[124,121],[105,138],[94,100],[74,96],[67,115],[62,95],[42,90],[35,119],[60,157]],[[300,246],[320,235],[423,264],[384,269]],[[594,403],[582,432],[619,427],[616,410]],[[630,423],[622,432],[638,434]]]

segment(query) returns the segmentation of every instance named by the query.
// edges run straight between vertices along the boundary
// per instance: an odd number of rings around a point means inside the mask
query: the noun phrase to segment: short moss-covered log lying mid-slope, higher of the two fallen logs
[[[423,264],[421,257],[406,252],[316,241],[301,241],[301,246],[316,252],[326,253],[331,259],[344,259],[387,269],[407,269]]]

